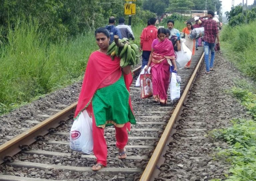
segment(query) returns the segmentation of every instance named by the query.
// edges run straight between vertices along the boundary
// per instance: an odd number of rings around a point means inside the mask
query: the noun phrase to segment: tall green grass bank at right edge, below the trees
[[[256,21],[240,26],[224,26],[221,49],[235,66],[256,80]]]

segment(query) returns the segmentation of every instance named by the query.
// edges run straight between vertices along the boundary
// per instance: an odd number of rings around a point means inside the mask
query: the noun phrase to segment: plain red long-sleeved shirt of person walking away
[[[157,28],[154,25],[149,25],[143,29],[140,35],[140,47],[144,51],[151,51],[151,45],[154,39],[157,38]]]

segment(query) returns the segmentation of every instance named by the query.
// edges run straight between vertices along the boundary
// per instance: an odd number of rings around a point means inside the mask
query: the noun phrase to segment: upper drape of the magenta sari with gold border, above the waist
[[[153,48],[154,48],[154,52],[152,54],[153,64],[159,64],[165,59],[175,59],[173,45],[170,40],[164,39],[164,41],[160,41]]]

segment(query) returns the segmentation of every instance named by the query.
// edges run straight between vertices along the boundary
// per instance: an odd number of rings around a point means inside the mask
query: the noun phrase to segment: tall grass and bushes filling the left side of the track
[[[94,31],[124,16],[124,0],[3,0],[0,6],[0,114],[81,80],[97,50]],[[135,43],[155,13],[136,2]]]

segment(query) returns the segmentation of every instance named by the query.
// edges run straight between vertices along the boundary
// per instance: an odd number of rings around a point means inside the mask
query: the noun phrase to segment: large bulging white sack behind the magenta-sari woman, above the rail
[[[182,69],[189,62],[192,56],[192,52],[185,45],[185,43],[181,42],[181,51],[174,51],[175,54],[175,62],[178,69]]]

